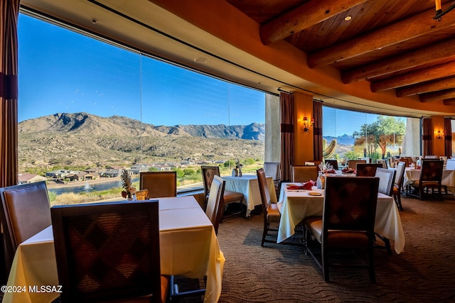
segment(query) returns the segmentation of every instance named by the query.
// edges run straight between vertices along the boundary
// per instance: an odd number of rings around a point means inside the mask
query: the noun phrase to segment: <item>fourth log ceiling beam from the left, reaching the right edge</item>
[[[371,92],[380,92],[397,87],[405,87],[420,82],[431,81],[444,77],[455,76],[455,61],[446,64],[416,70],[405,75],[398,75],[387,79],[371,82]]]

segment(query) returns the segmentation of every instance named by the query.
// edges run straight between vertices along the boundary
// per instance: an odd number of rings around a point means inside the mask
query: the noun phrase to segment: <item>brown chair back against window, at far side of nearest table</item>
[[[177,196],[177,172],[141,172],[139,189],[147,189],[149,199]]]

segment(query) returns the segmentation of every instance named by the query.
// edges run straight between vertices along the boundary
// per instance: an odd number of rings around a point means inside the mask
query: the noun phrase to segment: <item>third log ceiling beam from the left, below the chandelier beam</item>
[[[370,79],[387,75],[400,70],[436,62],[438,60],[455,60],[455,39],[447,40],[426,48],[412,50],[395,57],[379,60],[368,65],[357,67],[353,70],[343,72],[341,79],[344,84],[357,82],[363,79]]]

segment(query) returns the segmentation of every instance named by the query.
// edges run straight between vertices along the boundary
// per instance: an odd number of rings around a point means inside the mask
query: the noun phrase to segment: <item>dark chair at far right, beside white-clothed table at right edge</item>
[[[420,178],[411,184],[411,187],[417,192],[416,196],[419,197],[419,199],[424,199],[424,190],[428,193],[429,188],[432,189],[432,194],[434,194],[434,189],[437,189],[439,199],[443,199],[441,192],[442,170],[444,170],[443,160],[422,159],[422,172],[420,173]]]

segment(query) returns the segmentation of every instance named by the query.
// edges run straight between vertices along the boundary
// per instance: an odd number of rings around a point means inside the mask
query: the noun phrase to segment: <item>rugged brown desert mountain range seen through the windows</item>
[[[18,123],[18,165],[26,172],[53,167],[263,159],[264,137],[264,123],[154,126],[124,116],[60,113]],[[348,137],[338,137],[338,143],[348,142]]]

